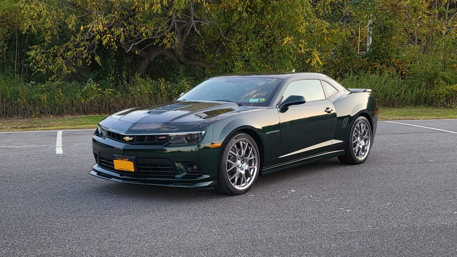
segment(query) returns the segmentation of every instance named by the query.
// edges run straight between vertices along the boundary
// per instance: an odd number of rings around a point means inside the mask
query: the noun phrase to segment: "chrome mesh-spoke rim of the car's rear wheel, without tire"
[[[358,160],[367,158],[371,144],[371,131],[369,124],[361,120],[356,124],[354,133],[352,134],[352,150]]]

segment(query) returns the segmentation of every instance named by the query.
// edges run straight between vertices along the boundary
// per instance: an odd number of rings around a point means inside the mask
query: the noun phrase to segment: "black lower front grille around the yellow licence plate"
[[[166,159],[149,159],[149,158],[137,158],[137,171],[118,171],[114,169],[114,162],[112,159],[100,157],[99,165],[110,171],[114,171],[121,174],[129,175],[145,175],[145,176],[175,176],[175,171],[171,166],[170,161]]]

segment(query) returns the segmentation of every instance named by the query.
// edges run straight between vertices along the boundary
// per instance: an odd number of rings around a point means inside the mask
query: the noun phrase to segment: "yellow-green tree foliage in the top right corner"
[[[408,44],[417,54],[439,51],[443,58],[447,48],[453,47],[450,41],[457,36],[456,0],[355,0],[349,3],[362,21],[370,17],[378,32],[389,33],[387,40],[406,43],[397,47],[404,53],[408,51]],[[364,8],[366,6],[370,8]],[[447,47],[446,42],[450,43]]]

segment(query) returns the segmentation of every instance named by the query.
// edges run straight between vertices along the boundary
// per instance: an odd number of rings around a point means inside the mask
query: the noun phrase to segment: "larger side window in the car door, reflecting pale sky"
[[[288,96],[303,96],[306,102],[325,99],[324,89],[320,80],[297,80],[287,85],[282,93],[282,101]]]

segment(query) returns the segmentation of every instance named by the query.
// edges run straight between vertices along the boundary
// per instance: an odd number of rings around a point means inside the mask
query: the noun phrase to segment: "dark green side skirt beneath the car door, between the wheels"
[[[320,153],[320,154],[317,154],[317,155],[304,157],[304,158],[301,158],[301,159],[298,159],[298,160],[288,161],[288,162],[281,163],[281,164],[278,164],[278,165],[262,168],[262,175],[266,175],[266,174],[273,173],[273,172],[276,172],[276,171],[281,171],[281,170],[284,170],[284,169],[287,169],[287,168],[292,168],[292,167],[295,167],[295,166],[300,166],[300,165],[303,165],[305,163],[312,162],[312,161],[317,161],[317,160],[321,160],[321,159],[328,159],[328,158],[333,158],[333,157],[336,157],[336,156],[344,155],[345,154],[344,146],[345,146],[345,144],[332,145],[330,150],[327,151],[327,152],[324,152],[324,153]]]

